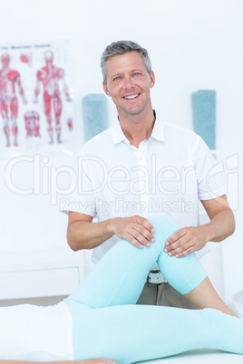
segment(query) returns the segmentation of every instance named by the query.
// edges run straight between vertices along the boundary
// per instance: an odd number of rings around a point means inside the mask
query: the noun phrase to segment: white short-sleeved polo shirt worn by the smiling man
[[[199,225],[199,200],[226,193],[223,176],[205,142],[193,131],[162,124],[132,146],[116,124],[89,140],[78,155],[78,186],[63,210],[96,216],[99,222],[126,216],[165,214],[180,227]],[[116,235],[93,250],[96,263]]]

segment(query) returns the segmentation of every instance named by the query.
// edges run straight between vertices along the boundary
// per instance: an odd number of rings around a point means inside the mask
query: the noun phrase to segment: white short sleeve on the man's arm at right
[[[226,174],[222,163],[217,163],[207,144],[194,135],[193,161],[198,183],[199,200],[209,200],[227,192]]]

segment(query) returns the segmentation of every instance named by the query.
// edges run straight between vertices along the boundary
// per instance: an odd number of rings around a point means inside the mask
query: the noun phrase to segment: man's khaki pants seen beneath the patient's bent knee
[[[169,283],[145,283],[137,304],[153,304],[192,310],[197,309],[197,307],[185,296],[174,290]]]

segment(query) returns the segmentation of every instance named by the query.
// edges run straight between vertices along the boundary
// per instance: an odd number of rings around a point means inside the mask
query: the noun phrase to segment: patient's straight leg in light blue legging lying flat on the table
[[[206,348],[243,354],[243,320],[213,309],[124,305],[83,310],[74,321],[76,360],[134,363]]]

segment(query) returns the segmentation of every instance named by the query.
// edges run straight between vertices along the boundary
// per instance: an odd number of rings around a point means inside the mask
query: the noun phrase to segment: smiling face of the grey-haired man
[[[115,55],[106,62],[106,83],[103,89],[112,97],[118,114],[138,115],[151,107],[150,89],[154,73],[148,73],[138,52]]]

